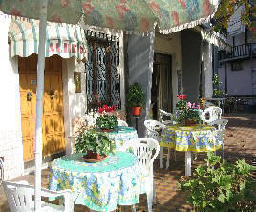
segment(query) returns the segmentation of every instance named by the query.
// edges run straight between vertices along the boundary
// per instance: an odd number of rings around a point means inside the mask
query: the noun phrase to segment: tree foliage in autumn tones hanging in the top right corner
[[[256,11],[256,5],[253,7],[249,0],[221,0],[214,16],[213,30],[219,32],[222,29],[226,29],[230,17],[241,6],[245,7],[241,20],[247,28],[251,29],[250,11]]]

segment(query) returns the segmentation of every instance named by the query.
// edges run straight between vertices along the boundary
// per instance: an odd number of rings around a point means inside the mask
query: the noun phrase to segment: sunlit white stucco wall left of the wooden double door
[[[5,180],[24,172],[17,58],[11,58],[8,45],[10,19],[0,15],[0,156],[5,157]]]

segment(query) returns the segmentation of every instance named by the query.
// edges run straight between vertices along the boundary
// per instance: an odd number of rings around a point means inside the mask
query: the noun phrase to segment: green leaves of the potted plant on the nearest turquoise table
[[[108,134],[92,131],[84,131],[75,141],[75,153],[87,153],[92,150],[98,155],[108,156],[114,153],[115,142]]]

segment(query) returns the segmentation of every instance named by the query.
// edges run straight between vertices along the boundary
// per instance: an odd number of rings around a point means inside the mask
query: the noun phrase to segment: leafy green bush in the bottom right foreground
[[[179,188],[189,192],[187,201],[197,211],[254,211],[256,182],[251,172],[256,168],[241,159],[221,162],[212,152],[207,157],[208,166],[199,166],[190,180],[179,181]]]

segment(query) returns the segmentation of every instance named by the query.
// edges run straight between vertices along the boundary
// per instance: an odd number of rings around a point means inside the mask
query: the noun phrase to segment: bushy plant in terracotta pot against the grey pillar
[[[145,103],[145,94],[142,90],[142,86],[139,83],[134,83],[130,85],[127,94],[127,106],[132,108],[132,113],[134,116],[139,116],[141,113],[141,108]]]

